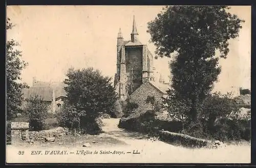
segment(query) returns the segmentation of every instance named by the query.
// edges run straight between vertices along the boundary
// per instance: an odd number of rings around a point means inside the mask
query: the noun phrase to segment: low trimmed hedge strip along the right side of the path
[[[206,147],[211,144],[211,141],[205,139],[169,131],[159,131],[159,138],[164,142],[185,147]]]

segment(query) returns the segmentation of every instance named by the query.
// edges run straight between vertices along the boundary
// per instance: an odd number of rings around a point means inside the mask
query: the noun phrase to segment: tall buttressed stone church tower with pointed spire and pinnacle
[[[152,80],[153,55],[138,38],[133,17],[131,40],[124,41],[121,29],[117,34],[117,70],[114,85],[119,98],[125,100],[143,82]]]

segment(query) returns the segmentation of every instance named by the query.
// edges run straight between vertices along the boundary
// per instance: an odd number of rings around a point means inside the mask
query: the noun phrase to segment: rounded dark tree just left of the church
[[[98,133],[95,119],[100,113],[113,115],[115,109],[117,94],[111,78],[93,68],[69,69],[65,83],[68,104],[75,109],[73,116],[78,118],[79,127],[91,134]]]

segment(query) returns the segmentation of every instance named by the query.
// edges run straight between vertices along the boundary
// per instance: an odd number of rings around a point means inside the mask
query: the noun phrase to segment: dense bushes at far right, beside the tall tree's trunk
[[[250,139],[250,120],[240,118],[240,109],[231,94],[210,94],[200,106],[197,123],[190,124],[183,133],[221,141]]]

